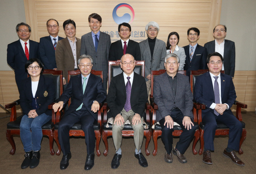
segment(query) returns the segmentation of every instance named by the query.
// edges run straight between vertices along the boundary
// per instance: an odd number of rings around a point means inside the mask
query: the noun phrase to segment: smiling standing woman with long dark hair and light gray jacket
[[[171,32],[167,38],[166,53],[177,54],[178,57],[180,58],[180,66],[178,70],[183,70],[186,61],[186,54],[184,48],[178,46],[179,40],[179,34],[177,32]]]

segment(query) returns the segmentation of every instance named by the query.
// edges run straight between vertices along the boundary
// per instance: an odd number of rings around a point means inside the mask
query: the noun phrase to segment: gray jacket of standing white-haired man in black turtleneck
[[[139,47],[141,49],[141,60],[145,61],[145,77],[151,74],[151,71],[164,69],[164,58],[166,56],[166,46],[164,41],[156,39],[152,59],[148,39],[140,42]],[[145,80],[148,81],[147,78],[145,78]]]

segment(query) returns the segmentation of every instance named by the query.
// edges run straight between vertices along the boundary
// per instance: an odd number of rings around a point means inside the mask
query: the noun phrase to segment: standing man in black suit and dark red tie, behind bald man
[[[109,50],[109,61],[120,60],[124,54],[131,54],[136,61],[141,60],[141,50],[139,43],[130,40],[131,26],[130,24],[123,22],[118,25],[118,34],[121,40],[118,40],[111,44]]]

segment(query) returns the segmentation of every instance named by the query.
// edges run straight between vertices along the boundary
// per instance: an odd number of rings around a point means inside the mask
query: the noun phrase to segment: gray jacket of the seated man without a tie
[[[156,121],[160,121],[167,115],[170,115],[173,107],[178,107],[184,116],[193,118],[193,95],[190,88],[188,77],[177,73],[177,91],[173,98],[171,86],[167,77],[163,73],[154,78],[154,101],[158,105],[156,111]]]

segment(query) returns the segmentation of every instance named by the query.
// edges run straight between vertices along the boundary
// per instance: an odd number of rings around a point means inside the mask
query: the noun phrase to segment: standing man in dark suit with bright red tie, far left
[[[18,90],[21,90],[21,81],[28,78],[24,66],[28,59],[39,59],[39,43],[29,40],[31,27],[21,22],[16,26],[16,32],[19,40],[8,44],[7,46],[7,63],[14,69],[15,80]]]

